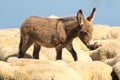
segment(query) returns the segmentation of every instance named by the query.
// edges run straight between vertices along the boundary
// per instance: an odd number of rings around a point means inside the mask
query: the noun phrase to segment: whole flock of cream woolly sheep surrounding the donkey
[[[79,38],[73,40],[78,61],[63,49],[55,60],[54,48],[42,47],[40,59],[32,58],[33,46],[18,59],[19,29],[0,30],[0,80],[120,80],[120,27],[94,25],[89,50]],[[117,79],[119,78],[119,79]]]

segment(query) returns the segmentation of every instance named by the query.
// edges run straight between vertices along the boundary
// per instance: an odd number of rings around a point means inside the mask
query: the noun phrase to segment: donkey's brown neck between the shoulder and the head
[[[65,26],[67,41],[72,40],[78,35],[78,32],[81,29],[76,16],[63,18],[62,21]]]

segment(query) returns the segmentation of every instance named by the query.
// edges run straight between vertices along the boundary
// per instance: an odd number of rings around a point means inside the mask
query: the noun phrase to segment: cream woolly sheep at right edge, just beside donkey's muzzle
[[[93,60],[105,61],[120,55],[119,39],[97,40],[93,46],[98,48],[87,52]]]

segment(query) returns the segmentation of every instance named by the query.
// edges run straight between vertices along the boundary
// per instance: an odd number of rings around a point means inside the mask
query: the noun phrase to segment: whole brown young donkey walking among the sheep
[[[55,47],[56,59],[62,59],[62,48],[66,48],[77,61],[77,54],[72,46],[72,40],[79,37],[87,45],[92,37],[93,19],[95,8],[90,16],[85,19],[82,10],[77,16],[48,19],[32,16],[21,25],[21,39],[19,44],[19,58],[24,57],[27,49],[34,43],[33,57],[39,59],[41,46]]]

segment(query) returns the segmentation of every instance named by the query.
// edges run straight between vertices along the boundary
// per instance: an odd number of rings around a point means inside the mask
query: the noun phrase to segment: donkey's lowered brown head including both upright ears
[[[82,10],[77,13],[77,19],[80,22],[81,31],[79,32],[79,38],[89,48],[89,41],[92,39],[93,26],[91,25],[93,17],[95,15],[96,8],[93,8],[89,17],[85,18]]]

